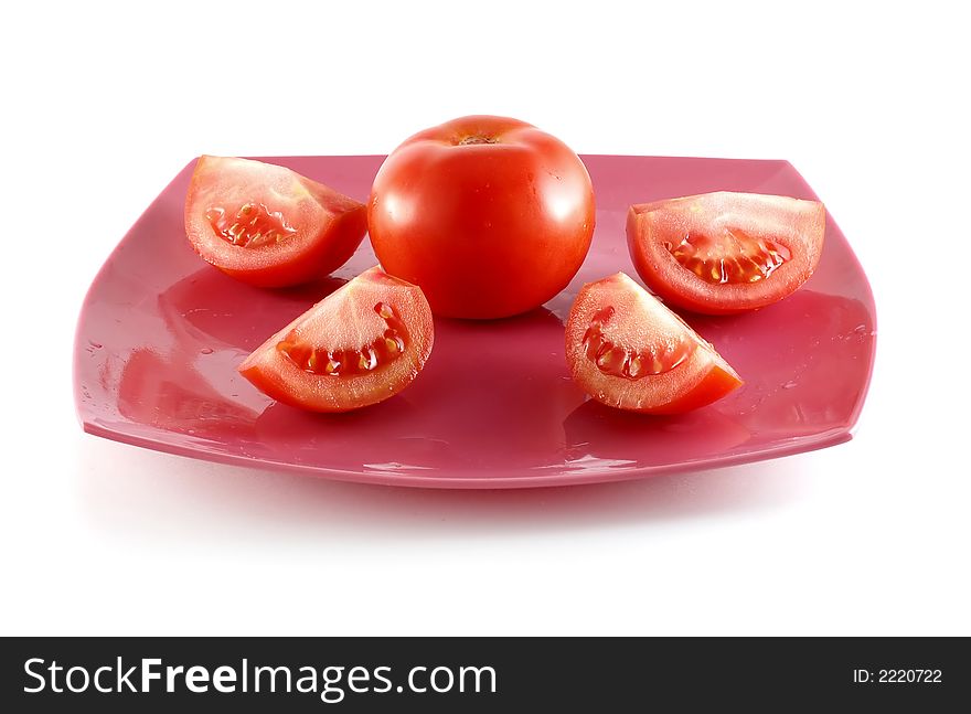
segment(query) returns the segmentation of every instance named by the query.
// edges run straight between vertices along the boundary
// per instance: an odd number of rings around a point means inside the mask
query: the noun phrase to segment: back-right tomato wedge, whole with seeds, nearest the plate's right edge
[[[638,274],[671,305],[730,315],[794,292],[823,248],[822,203],[719,191],[630,207]]]

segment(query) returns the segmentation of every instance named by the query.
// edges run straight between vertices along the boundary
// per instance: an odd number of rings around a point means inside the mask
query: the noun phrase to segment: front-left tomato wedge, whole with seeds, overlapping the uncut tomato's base
[[[408,386],[433,339],[422,289],[374,267],[274,334],[238,370],[278,402],[348,412]]]

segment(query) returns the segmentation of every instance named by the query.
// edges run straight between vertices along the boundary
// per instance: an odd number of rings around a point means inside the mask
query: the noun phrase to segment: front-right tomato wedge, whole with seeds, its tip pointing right
[[[595,399],[645,414],[689,412],[741,385],[715,348],[623,273],[580,290],[566,361]]]

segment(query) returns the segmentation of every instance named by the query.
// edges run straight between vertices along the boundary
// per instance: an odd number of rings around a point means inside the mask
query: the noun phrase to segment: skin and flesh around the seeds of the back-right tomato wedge
[[[753,220],[758,211],[783,216],[790,228],[773,234],[773,239],[792,252],[792,259],[767,279],[755,284],[712,285],[681,266],[663,246],[665,239],[680,241],[660,224],[664,212],[682,211],[691,201],[740,202]],[[788,213],[788,214],[787,214]],[[736,315],[777,302],[802,286],[822,255],[825,235],[825,209],[817,201],[750,193],[716,192],[636,204],[627,216],[627,241],[638,275],[669,305],[703,315]]]

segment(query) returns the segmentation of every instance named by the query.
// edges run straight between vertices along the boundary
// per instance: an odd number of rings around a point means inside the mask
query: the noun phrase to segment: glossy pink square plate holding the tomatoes
[[[383,157],[288,166],[364,200]],[[447,488],[563,486],[756,461],[850,438],[869,382],[873,296],[832,219],[815,275],[793,296],[727,318],[686,316],[746,384],[681,417],[591,402],[567,376],[563,323],[579,287],[636,273],[631,203],[729,190],[815,199],[786,161],[587,156],[597,231],[569,287],[508,320],[436,320],[435,349],[402,394],[342,415],[275,404],[235,366],[268,335],[376,263],[367,241],[332,278],[260,290],[205,265],[182,209],[190,163],[102,268],[77,326],[75,398],[86,431],[223,463]]]

